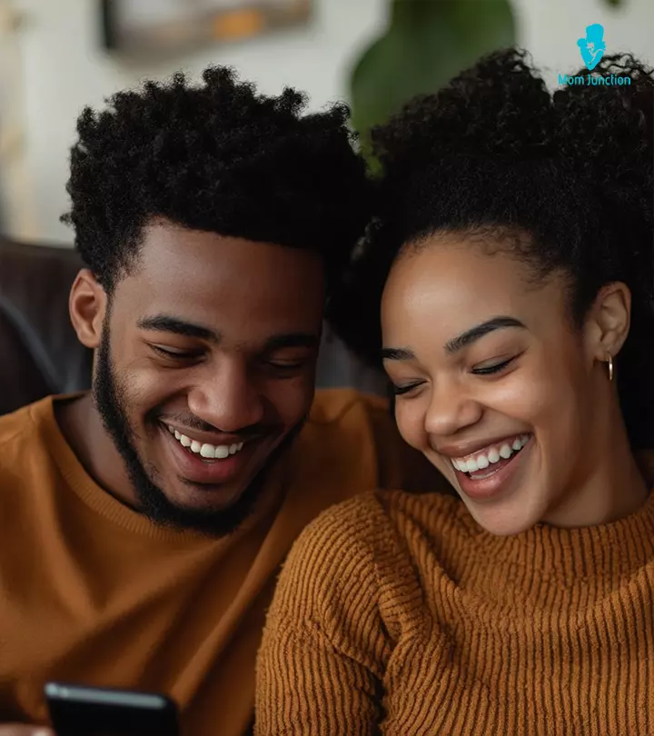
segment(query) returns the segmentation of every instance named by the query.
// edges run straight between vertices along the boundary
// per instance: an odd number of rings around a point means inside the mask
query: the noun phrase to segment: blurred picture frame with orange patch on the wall
[[[312,0],[99,0],[104,48],[152,56],[307,25]]]

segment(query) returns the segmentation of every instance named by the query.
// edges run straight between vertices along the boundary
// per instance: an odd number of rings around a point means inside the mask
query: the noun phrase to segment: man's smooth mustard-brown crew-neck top
[[[253,514],[209,539],[97,485],[59,429],[65,401],[0,417],[0,724],[46,724],[44,684],[61,680],[163,691],[184,736],[251,733],[256,652],[292,542],[362,489],[431,487],[428,463],[383,400],[319,392]]]

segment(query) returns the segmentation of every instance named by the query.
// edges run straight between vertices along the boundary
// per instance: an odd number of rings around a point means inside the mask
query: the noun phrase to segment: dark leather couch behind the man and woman
[[[78,342],[68,316],[68,293],[81,265],[70,248],[0,238],[0,414],[49,393],[89,387],[92,353]],[[384,379],[354,359],[328,328],[317,384],[385,390]]]

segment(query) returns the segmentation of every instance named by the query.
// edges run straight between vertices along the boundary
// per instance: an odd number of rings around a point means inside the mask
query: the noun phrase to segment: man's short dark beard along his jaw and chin
[[[191,529],[211,537],[223,537],[235,532],[245,519],[253,512],[274,462],[287,450],[295,437],[301,432],[306,417],[295,424],[271,453],[263,468],[243,491],[233,505],[227,509],[195,510],[183,509],[170,502],[165,493],[153,479],[157,471],[150,466],[145,468],[134,446],[134,431],[129,423],[127,406],[128,394],[124,383],[114,371],[111,359],[110,337],[108,325],[105,323],[102,339],[97,351],[94,372],[93,395],[95,407],[100,414],[105,431],[112,438],[114,445],[125,464],[128,477],[134,486],[139,502],[139,511],[151,521],[163,526],[180,530]],[[145,422],[148,423],[146,416]],[[150,416],[153,426],[154,416]]]

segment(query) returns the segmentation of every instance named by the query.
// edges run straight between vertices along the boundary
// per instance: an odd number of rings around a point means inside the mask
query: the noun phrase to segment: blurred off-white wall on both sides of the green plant
[[[10,221],[10,229],[29,239],[67,243],[72,236],[59,215],[67,208],[64,184],[74,122],[85,104],[102,104],[106,95],[144,77],[160,78],[175,68],[197,75],[203,66],[216,63],[235,65],[265,93],[277,93],[283,85],[305,89],[312,106],[321,106],[347,94],[350,67],[381,33],[390,0],[314,0],[316,18],[309,28],[216,46],[152,68],[122,65],[104,55],[97,43],[94,0],[14,2],[26,18],[20,46],[25,85],[21,155],[27,185],[26,194],[25,186],[21,190],[23,214]],[[654,58],[654,0],[626,0],[621,12],[606,8],[604,0],[513,3],[520,43],[549,67],[550,82],[559,72],[580,67],[576,42],[590,23],[605,25],[609,51],[631,50],[649,61]]]

